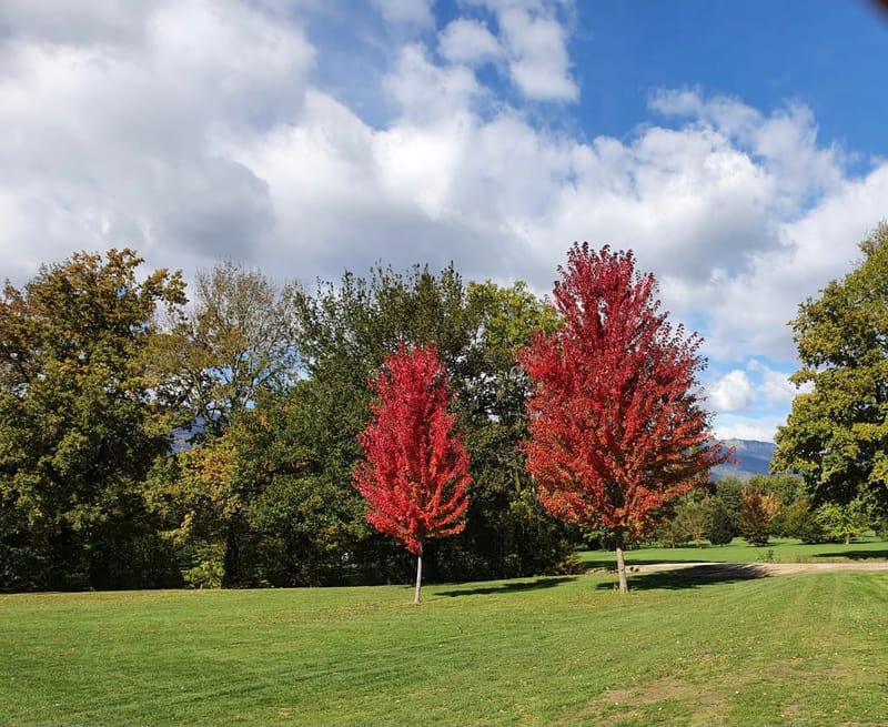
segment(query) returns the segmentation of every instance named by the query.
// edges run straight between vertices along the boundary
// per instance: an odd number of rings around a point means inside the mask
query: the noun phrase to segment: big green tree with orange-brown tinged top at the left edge
[[[131,250],[75,253],[0,302],[0,566],[7,587],[142,585],[145,473],[170,446],[148,350],[184,303]]]

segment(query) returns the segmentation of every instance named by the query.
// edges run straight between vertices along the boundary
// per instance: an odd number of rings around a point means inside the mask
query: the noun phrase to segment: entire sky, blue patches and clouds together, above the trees
[[[720,436],[788,412],[799,302],[888,216],[864,0],[0,0],[0,273],[454,261],[548,292],[633,249]]]

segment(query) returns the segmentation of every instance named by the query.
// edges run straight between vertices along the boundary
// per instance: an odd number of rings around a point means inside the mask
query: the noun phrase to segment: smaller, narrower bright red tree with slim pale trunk
[[[434,347],[402,344],[371,386],[377,401],[357,437],[365,458],[353,483],[370,504],[367,522],[416,556],[418,604],[423,544],[465,527],[468,452],[447,412],[447,374]]]

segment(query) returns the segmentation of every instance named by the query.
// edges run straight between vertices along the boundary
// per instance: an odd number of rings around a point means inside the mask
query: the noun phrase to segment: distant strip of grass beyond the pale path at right
[[[616,555],[613,551],[582,551],[578,553],[582,563],[588,568],[616,567]],[[653,563],[837,563],[861,562],[868,559],[888,561],[888,542],[874,534],[855,538],[850,544],[818,543],[806,545],[793,538],[770,538],[767,545],[749,545],[735,537],[729,545],[709,545],[703,547],[685,545],[675,548],[642,547],[626,551],[626,563],[648,565]]]

